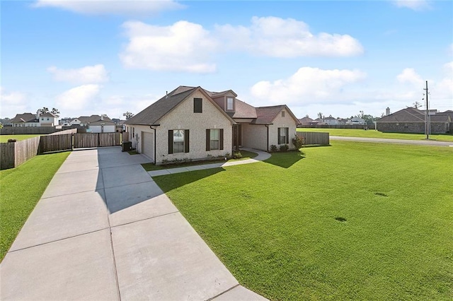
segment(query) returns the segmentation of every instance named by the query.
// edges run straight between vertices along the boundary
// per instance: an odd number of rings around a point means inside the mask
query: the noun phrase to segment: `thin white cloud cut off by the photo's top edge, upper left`
[[[184,8],[173,0],[38,0],[34,7],[56,7],[87,15],[144,16],[160,11]]]

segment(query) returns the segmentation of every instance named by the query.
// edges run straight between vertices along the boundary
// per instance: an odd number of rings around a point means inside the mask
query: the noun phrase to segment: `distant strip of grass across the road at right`
[[[330,133],[331,136],[348,136],[348,137],[365,137],[365,138],[390,138],[390,139],[404,139],[404,140],[424,140],[425,134],[407,134],[407,133],[382,133],[374,129],[365,131],[363,129],[308,129],[299,128],[297,131],[317,131],[323,133]],[[432,134],[430,140],[436,141],[453,141],[451,134]]]

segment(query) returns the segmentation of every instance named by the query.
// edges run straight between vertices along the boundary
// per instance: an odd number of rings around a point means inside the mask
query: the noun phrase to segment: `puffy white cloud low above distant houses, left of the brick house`
[[[78,116],[93,105],[99,90],[100,86],[96,84],[79,85],[58,95],[55,103],[60,112],[64,111],[64,114]]]

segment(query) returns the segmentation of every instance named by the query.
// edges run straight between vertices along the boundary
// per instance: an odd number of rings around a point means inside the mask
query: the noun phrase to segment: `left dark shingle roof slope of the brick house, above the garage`
[[[176,105],[185,100],[198,87],[179,86],[175,90],[157,100],[152,105],[127,120],[125,124],[152,125],[159,122],[159,119],[173,110]]]

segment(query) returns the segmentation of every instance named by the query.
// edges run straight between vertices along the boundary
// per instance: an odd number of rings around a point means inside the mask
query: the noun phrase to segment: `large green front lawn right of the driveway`
[[[452,300],[452,148],[333,141],[304,153],[154,180],[270,300]]]

